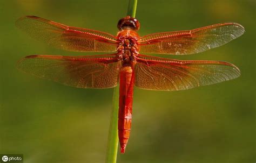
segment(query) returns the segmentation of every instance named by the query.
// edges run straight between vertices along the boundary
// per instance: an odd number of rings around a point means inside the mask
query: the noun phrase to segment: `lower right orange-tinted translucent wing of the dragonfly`
[[[240,70],[222,61],[181,61],[140,55],[135,86],[151,90],[185,90],[234,79]]]

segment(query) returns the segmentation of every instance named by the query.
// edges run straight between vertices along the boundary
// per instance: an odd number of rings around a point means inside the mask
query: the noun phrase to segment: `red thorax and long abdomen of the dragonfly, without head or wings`
[[[125,152],[126,144],[130,137],[132,122],[132,102],[134,86],[134,59],[138,55],[138,34],[133,30],[118,32],[120,41],[118,53],[122,57],[119,86],[119,112],[118,112],[118,138],[121,153]]]

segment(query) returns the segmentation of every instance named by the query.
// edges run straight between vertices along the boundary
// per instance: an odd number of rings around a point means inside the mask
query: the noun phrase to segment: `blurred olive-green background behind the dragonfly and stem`
[[[117,33],[127,1],[0,2],[0,153],[24,162],[104,162],[113,89],[78,89],[16,69],[26,55],[85,55],[38,42],[15,27],[25,15]],[[132,131],[118,162],[255,162],[255,1],[138,0],[141,36],[237,22],[246,33],[182,60],[224,60],[241,70],[232,81],[186,91],[135,88]],[[90,53],[94,54],[94,53]],[[158,55],[159,56],[159,55]]]

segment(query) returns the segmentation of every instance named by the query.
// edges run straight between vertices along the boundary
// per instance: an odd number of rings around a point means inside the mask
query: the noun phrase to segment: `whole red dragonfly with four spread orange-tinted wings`
[[[119,86],[118,137],[121,153],[130,137],[133,87],[185,90],[234,79],[240,70],[223,61],[174,60],[143,53],[183,55],[204,52],[241,36],[237,23],[221,23],[195,30],[163,32],[139,37],[140,24],[127,16],[118,22],[117,36],[71,27],[35,16],[16,22],[19,29],[51,46],[75,52],[112,52],[88,56],[30,55],[18,68],[43,79],[78,88]]]

